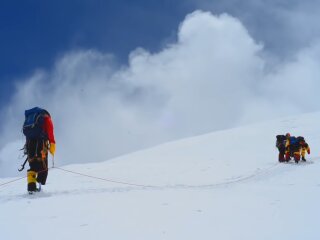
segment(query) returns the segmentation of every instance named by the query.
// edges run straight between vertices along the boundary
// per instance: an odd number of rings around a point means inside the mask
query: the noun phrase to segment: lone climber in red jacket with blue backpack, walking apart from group
[[[28,192],[32,194],[46,184],[48,151],[52,156],[55,154],[53,123],[49,112],[38,107],[26,110],[23,133],[26,136],[24,151],[30,166],[27,171]]]

